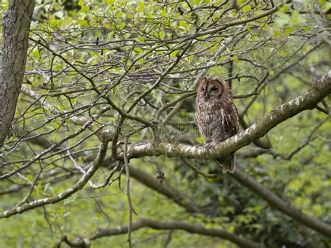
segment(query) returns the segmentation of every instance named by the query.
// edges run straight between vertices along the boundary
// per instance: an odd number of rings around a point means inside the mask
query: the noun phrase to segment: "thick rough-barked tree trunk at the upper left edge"
[[[0,147],[10,131],[22,86],[34,3],[34,0],[12,0],[3,17],[0,59]]]

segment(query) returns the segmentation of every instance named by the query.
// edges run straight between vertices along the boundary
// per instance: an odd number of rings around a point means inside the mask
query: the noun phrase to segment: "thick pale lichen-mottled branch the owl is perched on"
[[[271,129],[281,122],[284,122],[286,119],[304,110],[314,109],[328,94],[331,94],[331,71],[325,74],[321,80],[318,80],[311,89],[302,96],[297,96],[288,101],[288,103],[284,103],[278,108],[268,112],[248,129],[216,145],[214,149],[207,150],[203,147],[171,143],[147,143],[143,145],[132,145],[128,149],[128,154],[130,158],[165,155],[169,157],[183,156],[194,159],[216,159],[219,156],[229,154],[245,145],[249,145],[253,140],[265,136]]]

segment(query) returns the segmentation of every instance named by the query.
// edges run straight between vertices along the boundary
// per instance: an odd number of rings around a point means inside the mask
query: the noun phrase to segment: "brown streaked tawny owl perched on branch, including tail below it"
[[[238,131],[237,108],[228,84],[221,78],[202,78],[196,96],[196,124],[205,140],[205,148],[234,136]],[[216,160],[223,173],[235,172],[235,153]]]

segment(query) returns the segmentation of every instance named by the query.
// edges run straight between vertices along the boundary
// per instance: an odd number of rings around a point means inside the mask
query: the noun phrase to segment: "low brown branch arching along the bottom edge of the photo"
[[[152,219],[140,219],[132,224],[132,231],[138,230],[143,227],[149,227],[156,230],[183,230],[189,233],[197,233],[200,235],[206,235],[210,237],[222,238],[224,240],[229,240],[230,242],[239,245],[240,247],[265,247],[257,242],[247,240],[245,238],[238,237],[232,233],[228,233],[221,229],[205,228],[203,226],[198,226],[194,224],[184,223],[181,221],[154,221]],[[97,238],[108,237],[112,235],[120,235],[128,232],[127,226],[117,226],[112,229],[104,229],[98,231],[91,237],[91,240],[96,240]]]

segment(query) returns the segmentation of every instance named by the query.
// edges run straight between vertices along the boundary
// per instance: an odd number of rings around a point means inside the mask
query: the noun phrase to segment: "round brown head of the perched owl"
[[[221,78],[202,78],[198,84],[198,98],[203,101],[220,99],[226,82]]]

